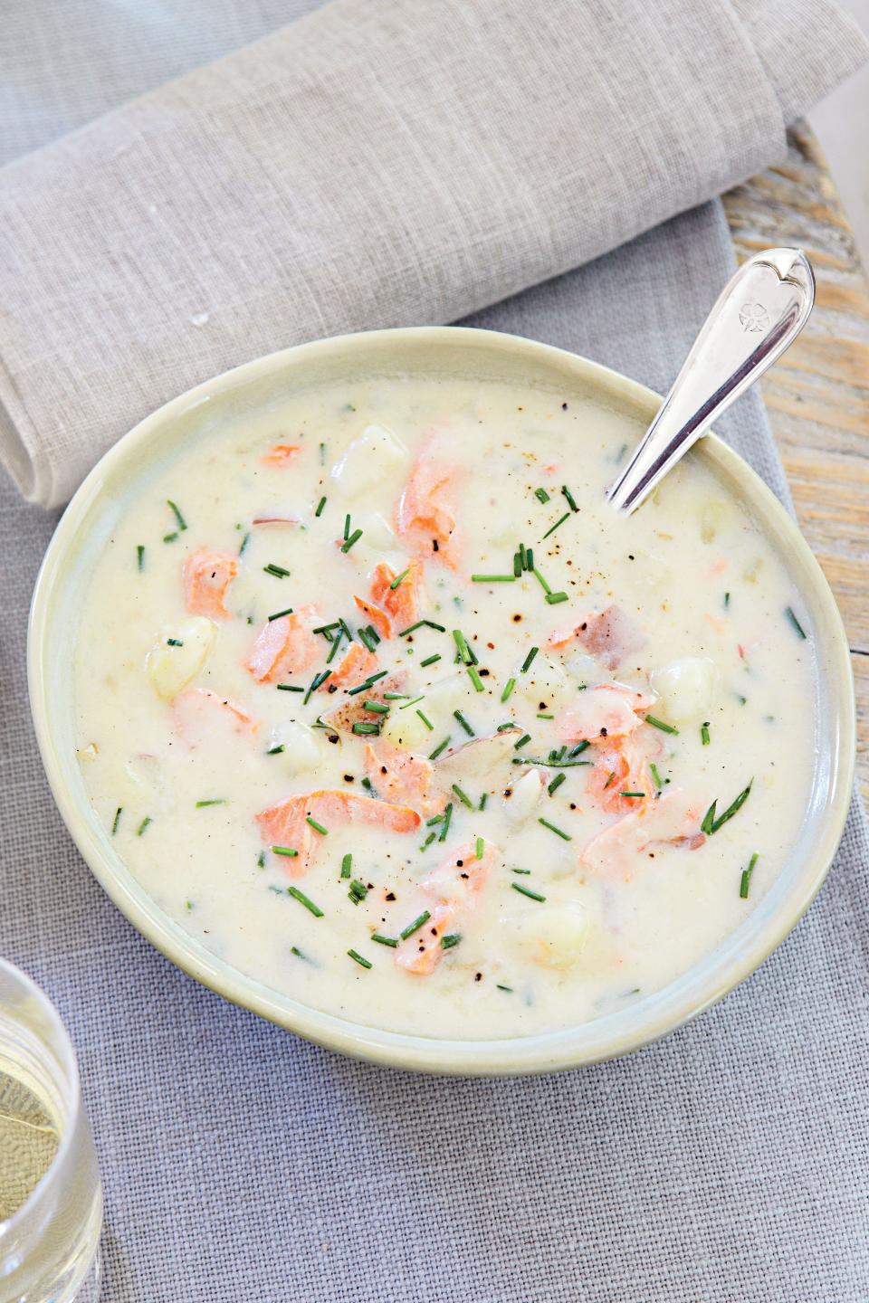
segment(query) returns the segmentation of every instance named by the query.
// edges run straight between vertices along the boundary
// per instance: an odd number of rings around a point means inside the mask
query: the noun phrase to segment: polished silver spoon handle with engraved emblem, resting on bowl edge
[[[722,291],[670,394],[631,461],[608,490],[634,511],[670,468],[706,434],[793,343],[814,304],[814,275],[801,249],[766,249]]]

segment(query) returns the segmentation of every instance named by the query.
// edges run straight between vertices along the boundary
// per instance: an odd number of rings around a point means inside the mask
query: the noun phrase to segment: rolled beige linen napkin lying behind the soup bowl
[[[0,455],[55,506],[218,371],[578,266],[865,56],[827,0],[334,0],[0,171]]]

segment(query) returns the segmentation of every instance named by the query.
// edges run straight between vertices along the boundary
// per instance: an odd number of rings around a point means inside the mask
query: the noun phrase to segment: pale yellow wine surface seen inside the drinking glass
[[[46,1175],[60,1136],[48,1108],[0,1059],[0,1222]]]

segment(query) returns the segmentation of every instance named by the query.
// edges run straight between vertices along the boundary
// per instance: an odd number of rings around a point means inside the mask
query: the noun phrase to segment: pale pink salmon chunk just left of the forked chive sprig
[[[593,837],[580,856],[581,863],[601,877],[629,882],[641,859],[654,859],[666,846],[696,851],[706,837],[700,831],[701,813],[696,801],[674,787],[654,801],[625,814],[611,827]]]

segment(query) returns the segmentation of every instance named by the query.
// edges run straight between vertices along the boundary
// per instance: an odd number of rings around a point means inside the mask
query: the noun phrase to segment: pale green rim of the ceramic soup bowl
[[[108,896],[129,923],[167,959],[231,1003],[352,1058],[404,1070],[459,1076],[512,1076],[597,1063],[631,1053],[675,1031],[750,976],[796,926],[819,891],[848,814],[855,771],[855,709],[852,668],[842,616],[826,577],[796,521],[748,463],[715,434],[706,435],[697,447],[702,448],[705,460],[713,464],[713,469],[739,482],[743,500],[756,516],[771,519],[778,541],[784,541],[787,545],[788,555],[792,554],[795,558],[795,567],[799,563],[804,581],[808,582],[812,598],[822,615],[821,623],[816,620],[816,627],[822,629],[825,638],[826,657],[822,672],[826,674],[842,708],[835,721],[835,745],[830,754],[830,799],[821,814],[821,830],[814,839],[812,855],[806,856],[803,874],[790,893],[788,908],[769,919],[762,928],[756,925],[749,943],[736,947],[734,939],[747,933],[749,921],[757,913],[753,911],[745,924],[736,928],[705,960],[692,966],[670,986],[632,1005],[629,1007],[632,1014],[644,1006],[651,1007],[651,1015],[641,1019],[640,1027],[634,1027],[632,1032],[625,1033],[624,1029],[619,1029],[619,1023],[625,1020],[623,1012],[559,1032],[499,1040],[439,1040],[353,1023],[281,995],[205,951],[199,942],[159,909],[129,870],[126,870],[129,881],[124,881],[111,863],[106,846],[98,839],[93,820],[83,812],[83,803],[76,799],[64,778],[59,744],[52,728],[53,701],[47,691],[47,675],[43,672],[50,655],[51,610],[56,593],[63,589],[64,562],[69,555],[69,545],[77,537],[86,515],[103,495],[106,478],[122,466],[133,451],[158,434],[167,422],[176,421],[194,407],[228,394],[240,384],[331,353],[352,356],[371,347],[386,345],[387,349],[393,349],[404,344],[425,347],[461,344],[468,348],[512,351],[535,358],[543,365],[548,362],[554,370],[569,371],[577,383],[616,399],[642,418],[650,418],[662,401],[659,395],[637,380],[569,351],[499,331],[457,326],[363,331],[298,344],[245,362],[178,395],[139,421],[96,463],[66,507],[43,558],[34,586],[27,633],[27,679],[39,751],[64,823]],[[409,371],[410,367],[403,366],[401,370]],[[818,661],[821,662],[821,657]],[[727,947],[728,941],[730,947]],[[674,989],[680,989],[692,973],[700,973],[704,967],[709,967],[713,955],[718,954],[722,946],[735,951],[727,971],[717,973],[713,968],[704,982],[698,984],[694,980],[693,985],[689,984],[688,989],[676,997]],[[724,955],[718,962],[719,969],[723,967],[723,959]],[[698,989],[694,989],[697,986]],[[668,993],[670,998],[666,998]]]

